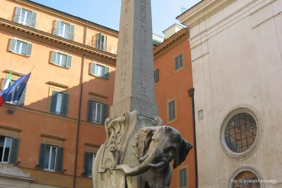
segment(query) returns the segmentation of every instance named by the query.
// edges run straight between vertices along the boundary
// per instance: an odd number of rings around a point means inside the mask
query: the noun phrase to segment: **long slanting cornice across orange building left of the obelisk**
[[[25,25],[17,24],[15,22],[0,18],[0,29],[9,33],[18,34],[39,42],[50,44],[52,46],[65,49],[77,54],[85,54],[96,60],[116,64],[117,55],[81,44],[72,40],[64,39],[62,37],[39,31]]]

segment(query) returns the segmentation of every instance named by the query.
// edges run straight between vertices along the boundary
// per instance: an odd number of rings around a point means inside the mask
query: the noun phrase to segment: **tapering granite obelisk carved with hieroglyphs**
[[[158,115],[154,90],[151,0],[122,0],[113,105],[110,118],[137,110]]]

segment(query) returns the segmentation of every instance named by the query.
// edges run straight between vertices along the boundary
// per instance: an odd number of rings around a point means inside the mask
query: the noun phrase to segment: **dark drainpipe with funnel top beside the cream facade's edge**
[[[196,125],[195,125],[195,104],[194,91],[192,87],[188,90],[188,95],[192,99],[192,116],[193,116],[193,140],[194,140],[194,160],[195,160],[195,188],[198,188],[198,162],[197,162],[197,146],[196,146]]]

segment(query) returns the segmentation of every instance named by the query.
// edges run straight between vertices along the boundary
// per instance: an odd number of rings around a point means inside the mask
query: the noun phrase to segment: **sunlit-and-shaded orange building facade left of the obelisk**
[[[12,83],[32,71],[18,105],[0,108],[0,187],[91,187],[118,31],[28,0],[0,8],[1,89],[10,70]]]

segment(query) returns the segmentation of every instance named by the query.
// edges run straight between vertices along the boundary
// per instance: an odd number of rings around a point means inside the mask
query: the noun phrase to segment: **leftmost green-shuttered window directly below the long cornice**
[[[22,54],[22,55],[31,56],[31,50],[32,50],[31,43],[22,42],[15,38],[11,39],[10,51],[14,53]]]

